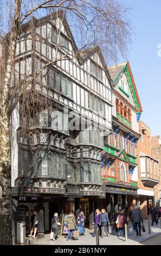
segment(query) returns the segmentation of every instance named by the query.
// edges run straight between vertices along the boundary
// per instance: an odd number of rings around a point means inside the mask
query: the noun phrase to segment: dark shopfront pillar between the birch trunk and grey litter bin
[[[12,198],[11,204],[12,204],[12,236],[13,236],[13,244],[14,244],[17,242],[18,201],[15,198]]]

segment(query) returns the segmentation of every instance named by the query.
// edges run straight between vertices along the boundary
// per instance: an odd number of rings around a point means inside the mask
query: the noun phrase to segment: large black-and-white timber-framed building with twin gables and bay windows
[[[27,85],[26,94],[35,95],[30,114],[35,118],[29,122],[27,134],[23,134],[21,127],[21,101],[13,113],[13,236],[16,236],[17,219],[26,220],[29,231],[31,210],[36,207],[38,237],[50,230],[54,212],[61,217],[71,210],[76,214],[83,210],[87,223],[92,225],[98,199],[106,197],[100,167],[103,131],[95,130],[94,124],[101,124],[107,134],[112,131],[112,80],[101,50],[93,47],[78,54],[60,11],[57,16],[53,13],[24,24],[16,52],[15,82],[25,82],[48,62],[60,59],[46,67],[36,82]],[[48,99],[49,106],[39,111],[44,99]],[[66,114],[64,107],[67,107]],[[63,128],[53,126],[54,111],[61,118]],[[81,118],[85,120],[86,129],[69,129],[73,112],[76,123]],[[116,121],[121,123],[117,117]],[[132,130],[131,136],[138,138]]]

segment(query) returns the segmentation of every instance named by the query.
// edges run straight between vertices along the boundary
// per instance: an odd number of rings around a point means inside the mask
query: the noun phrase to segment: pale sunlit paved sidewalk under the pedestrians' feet
[[[129,223],[128,228],[131,226]],[[125,237],[122,235],[117,237],[117,233],[112,233],[108,237],[105,236],[103,239],[100,238],[100,245],[137,245],[140,242],[143,242],[151,237],[161,234],[160,223],[158,225],[151,225],[151,234],[148,234],[148,223],[147,220],[144,221],[144,227],[146,232],[141,232],[141,236],[137,236],[135,231],[133,235],[129,235],[129,231],[127,228],[128,241],[125,242]],[[30,245],[96,245],[96,237],[92,237],[92,230],[85,229],[85,235],[79,236],[79,238],[75,241],[69,240],[66,241],[66,236],[59,235],[59,239],[57,241],[49,240],[50,234],[45,234],[44,239],[37,239],[32,237],[27,237],[30,240]]]

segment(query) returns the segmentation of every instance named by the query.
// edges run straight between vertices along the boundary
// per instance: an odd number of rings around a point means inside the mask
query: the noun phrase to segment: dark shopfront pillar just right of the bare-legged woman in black
[[[43,197],[38,197],[38,238],[44,238],[44,202]]]

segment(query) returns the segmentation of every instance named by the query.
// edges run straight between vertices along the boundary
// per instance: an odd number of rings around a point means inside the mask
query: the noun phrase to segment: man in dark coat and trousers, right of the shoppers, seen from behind
[[[135,209],[132,212],[131,217],[132,222],[134,222],[135,231],[138,235],[141,235],[141,222],[143,223],[143,217],[141,214],[141,210],[138,209],[138,206],[135,206]],[[139,228],[139,231],[138,231]]]

